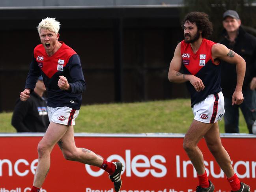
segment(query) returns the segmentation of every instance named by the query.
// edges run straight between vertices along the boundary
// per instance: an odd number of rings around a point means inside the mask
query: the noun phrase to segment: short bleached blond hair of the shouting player
[[[37,26],[37,31],[40,35],[41,29],[50,30],[56,34],[58,34],[60,30],[60,22],[55,20],[54,18],[47,17],[45,19],[42,19],[42,21]]]

